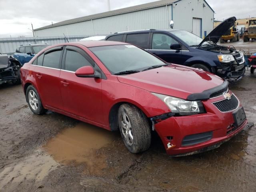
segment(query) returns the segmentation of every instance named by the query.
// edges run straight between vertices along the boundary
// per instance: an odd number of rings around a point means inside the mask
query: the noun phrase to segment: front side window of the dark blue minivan
[[[154,33],[152,39],[152,49],[170,50],[170,45],[178,43],[174,38],[160,33]]]

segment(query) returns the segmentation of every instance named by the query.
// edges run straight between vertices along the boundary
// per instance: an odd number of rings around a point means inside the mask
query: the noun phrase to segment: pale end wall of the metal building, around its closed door
[[[203,4],[205,7],[203,7]],[[214,12],[204,0],[181,0],[173,4],[174,29],[192,32],[193,18],[202,19],[202,38],[213,30]]]

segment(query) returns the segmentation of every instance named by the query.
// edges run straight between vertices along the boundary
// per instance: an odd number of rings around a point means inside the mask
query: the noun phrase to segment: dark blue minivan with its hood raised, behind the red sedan
[[[235,21],[235,17],[224,20],[204,39],[185,30],[150,29],[115,33],[105,40],[128,42],[166,62],[200,68],[229,80],[238,80],[245,72],[242,52],[234,47],[216,44]]]

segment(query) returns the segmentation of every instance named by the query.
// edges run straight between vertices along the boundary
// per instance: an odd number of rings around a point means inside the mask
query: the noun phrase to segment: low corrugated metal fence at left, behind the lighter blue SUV
[[[84,36],[69,36],[69,42],[77,42]],[[0,52],[2,54],[11,55],[15,52],[16,48],[21,44],[41,44],[48,43],[50,45],[67,42],[64,36],[56,37],[37,37],[37,38],[0,38]]]

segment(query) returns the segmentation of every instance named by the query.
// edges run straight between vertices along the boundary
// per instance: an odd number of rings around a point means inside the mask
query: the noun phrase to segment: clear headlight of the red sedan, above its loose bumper
[[[173,113],[179,114],[198,114],[205,113],[204,106],[201,101],[188,101],[168,95],[152,93],[160,98],[170,108]]]

